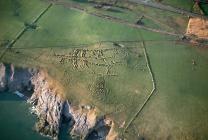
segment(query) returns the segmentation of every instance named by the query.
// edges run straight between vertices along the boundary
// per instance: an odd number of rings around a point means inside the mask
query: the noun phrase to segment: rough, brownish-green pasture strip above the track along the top
[[[109,2],[109,1],[105,1]],[[101,2],[102,3],[102,2]],[[153,29],[161,29],[169,32],[184,33],[188,18],[180,14],[164,11],[143,5],[136,5],[118,1],[115,6],[104,6],[102,8],[94,8],[95,4],[87,1],[67,1],[65,0],[64,6],[75,4],[85,8],[89,13],[97,13],[102,15],[109,15],[116,17],[129,23],[135,24],[142,16],[143,26]],[[126,7],[126,9],[119,8]]]

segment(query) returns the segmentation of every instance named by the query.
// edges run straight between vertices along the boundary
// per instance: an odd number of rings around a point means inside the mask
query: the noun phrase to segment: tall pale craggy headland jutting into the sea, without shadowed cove
[[[31,83],[34,85],[34,93],[28,102],[33,105],[34,113],[39,118],[36,129],[44,135],[57,137],[64,100],[53,88],[50,88],[44,72],[36,73],[32,77]]]

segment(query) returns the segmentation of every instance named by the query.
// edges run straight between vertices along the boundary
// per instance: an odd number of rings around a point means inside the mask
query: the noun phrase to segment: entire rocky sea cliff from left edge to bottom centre
[[[61,124],[70,124],[69,132],[79,139],[113,140],[112,121],[98,117],[96,109],[78,107],[75,109],[60,93],[59,84],[43,70],[15,68],[0,63],[0,91],[19,91],[30,96],[32,112],[38,117],[36,129],[43,135],[58,138]]]

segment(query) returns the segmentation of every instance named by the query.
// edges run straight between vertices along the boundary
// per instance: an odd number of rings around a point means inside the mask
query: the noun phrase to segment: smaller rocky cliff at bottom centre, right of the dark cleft
[[[76,139],[84,140],[116,140],[114,123],[104,116],[97,116],[96,109],[83,107],[75,109],[65,104],[66,116],[70,117],[72,127],[70,134]]]

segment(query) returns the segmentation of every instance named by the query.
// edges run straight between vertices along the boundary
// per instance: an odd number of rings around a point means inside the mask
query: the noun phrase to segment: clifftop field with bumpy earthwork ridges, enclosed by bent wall
[[[72,102],[90,103],[115,118],[122,115],[120,124],[131,119],[152,90],[144,53],[139,42],[109,42],[82,48],[14,48],[3,59],[17,65],[21,59],[16,57],[24,58],[25,65],[39,62],[61,80]]]

